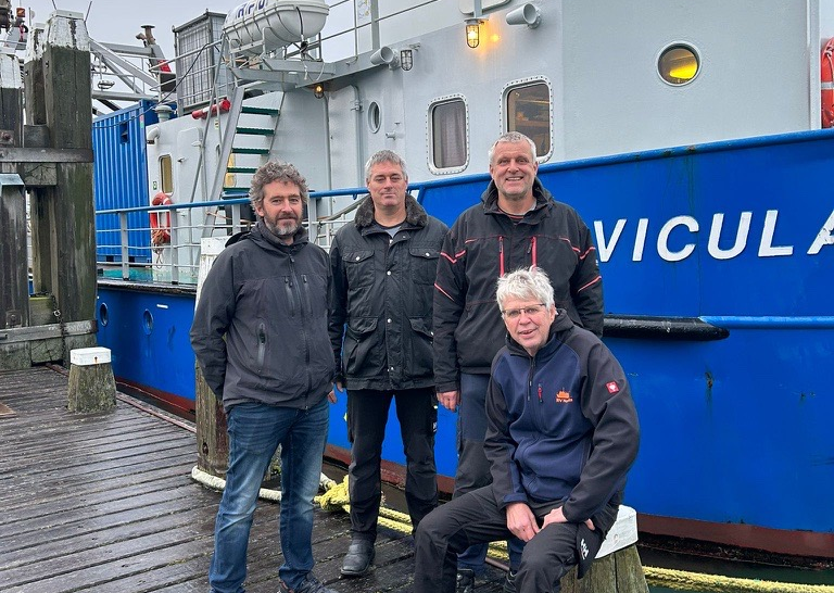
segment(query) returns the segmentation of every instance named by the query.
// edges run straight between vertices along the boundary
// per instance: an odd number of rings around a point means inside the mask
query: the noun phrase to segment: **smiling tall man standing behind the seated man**
[[[450,411],[459,406],[454,496],[490,482],[484,400],[490,363],[505,333],[495,281],[535,265],[549,276],[556,306],[580,327],[603,333],[603,283],[591,232],[572,207],[553,199],[538,169],[530,138],[517,131],[501,136],[490,149],[492,181],[481,203],[460,214],[443,242],[434,293],[434,378],[439,403]],[[520,548],[510,540],[511,570]],[[460,555],[458,593],[471,593],[485,556],[485,545]],[[513,591],[510,581],[504,591]]]

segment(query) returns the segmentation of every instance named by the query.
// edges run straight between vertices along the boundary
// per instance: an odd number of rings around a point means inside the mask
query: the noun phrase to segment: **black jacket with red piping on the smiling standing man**
[[[489,374],[504,345],[495,288],[505,273],[539,266],[551,278],[556,306],[574,324],[603,335],[603,281],[591,231],[539,179],[533,194],[534,209],[514,223],[498,209],[491,181],[481,203],[460,214],[443,242],[433,325],[439,392],[458,389],[462,371]]]

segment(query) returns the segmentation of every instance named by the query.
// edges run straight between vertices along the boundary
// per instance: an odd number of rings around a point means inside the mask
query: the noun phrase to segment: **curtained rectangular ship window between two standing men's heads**
[[[434,169],[460,171],[466,165],[469,152],[466,128],[466,103],[462,98],[443,100],[429,108],[431,164]]]

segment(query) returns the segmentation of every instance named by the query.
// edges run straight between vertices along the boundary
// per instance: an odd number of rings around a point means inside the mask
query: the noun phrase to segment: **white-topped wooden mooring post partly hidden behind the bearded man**
[[[227,238],[207,237],[200,244],[200,270],[197,281],[197,301],[200,300],[200,291],[214,260],[223,251]],[[197,302],[194,302],[197,306]],[[223,404],[208,388],[203,379],[200,365],[195,365],[197,396],[194,408],[197,411],[197,467],[198,469],[215,476],[226,478],[226,469],[229,463],[229,437],[226,432],[226,413]]]

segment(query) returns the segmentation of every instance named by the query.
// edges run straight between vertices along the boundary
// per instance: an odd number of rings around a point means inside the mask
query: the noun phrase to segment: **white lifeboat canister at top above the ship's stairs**
[[[321,33],[329,12],[326,0],[250,0],[226,15],[223,33],[232,49],[275,51]]]

